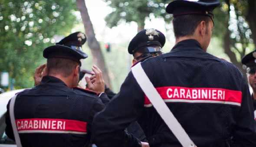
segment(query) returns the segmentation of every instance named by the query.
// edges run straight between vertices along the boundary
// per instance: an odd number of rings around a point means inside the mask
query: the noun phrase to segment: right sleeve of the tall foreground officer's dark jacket
[[[234,128],[234,147],[256,147],[253,101],[246,81],[242,84],[242,103]]]

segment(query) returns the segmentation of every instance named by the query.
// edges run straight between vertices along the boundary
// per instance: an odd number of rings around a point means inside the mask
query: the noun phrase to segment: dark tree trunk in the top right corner
[[[252,31],[253,43],[256,47],[256,1],[248,0],[248,13],[246,16],[246,20],[249,23],[250,29]]]

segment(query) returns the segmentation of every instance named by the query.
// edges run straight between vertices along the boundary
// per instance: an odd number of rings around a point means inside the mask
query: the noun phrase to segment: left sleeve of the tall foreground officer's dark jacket
[[[120,92],[108,106],[96,114],[92,123],[92,140],[98,147],[140,147],[140,141],[124,130],[141,114],[144,93],[128,74]]]

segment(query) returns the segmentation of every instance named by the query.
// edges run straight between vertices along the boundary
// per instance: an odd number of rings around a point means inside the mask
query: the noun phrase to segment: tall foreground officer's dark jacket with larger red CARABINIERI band
[[[141,63],[166,105],[197,147],[256,147],[253,102],[241,72],[196,40]],[[120,92],[92,123],[98,147],[139,147],[122,130],[137,120],[150,147],[181,147],[130,72]],[[232,138],[232,141],[231,141]]]

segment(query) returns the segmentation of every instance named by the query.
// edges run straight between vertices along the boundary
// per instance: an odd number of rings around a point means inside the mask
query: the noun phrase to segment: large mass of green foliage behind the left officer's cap
[[[9,72],[15,88],[33,86],[43,49],[55,43],[54,35],[69,32],[75,8],[74,0],[1,0],[0,72]]]

